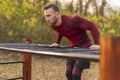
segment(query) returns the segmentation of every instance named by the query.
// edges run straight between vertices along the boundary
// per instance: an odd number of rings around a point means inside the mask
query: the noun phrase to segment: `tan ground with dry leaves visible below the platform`
[[[0,62],[21,60],[21,54],[0,52]],[[49,56],[32,56],[32,80],[67,80],[66,59]],[[0,65],[0,80],[22,76],[22,64]],[[83,71],[82,80],[99,80],[99,64],[91,62],[90,69]]]

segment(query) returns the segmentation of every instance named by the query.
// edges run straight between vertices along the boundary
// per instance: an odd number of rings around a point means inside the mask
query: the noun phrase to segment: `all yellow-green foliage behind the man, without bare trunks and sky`
[[[23,38],[31,38],[35,43],[52,43],[55,32],[46,24],[42,6],[49,0],[0,0],[0,42],[22,42]],[[61,3],[57,3],[61,7]],[[73,3],[61,9],[62,14],[73,15]],[[95,22],[101,35],[120,36],[120,16],[95,16],[89,13],[84,16]],[[67,43],[63,39],[63,44]]]

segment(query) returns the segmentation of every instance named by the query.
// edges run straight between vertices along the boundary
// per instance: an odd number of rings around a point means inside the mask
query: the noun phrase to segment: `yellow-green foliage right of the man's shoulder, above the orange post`
[[[120,36],[120,16],[104,18],[102,16],[87,16],[89,20],[95,22],[100,29],[102,36]]]

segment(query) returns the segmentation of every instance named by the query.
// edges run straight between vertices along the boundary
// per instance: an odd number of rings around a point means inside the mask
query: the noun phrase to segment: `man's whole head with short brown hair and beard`
[[[60,10],[55,4],[48,3],[43,6],[44,15],[50,26],[57,25],[60,18]]]

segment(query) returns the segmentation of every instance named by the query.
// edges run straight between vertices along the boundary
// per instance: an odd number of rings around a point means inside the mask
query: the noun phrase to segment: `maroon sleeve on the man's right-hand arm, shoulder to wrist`
[[[85,18],[81,18],[80,16],[75,16],[72,22],[80,29],[89,30],[94,38],[94,43],[99,44],[100,33],[96,24],[94,24],[91,21],[88,21]]]

